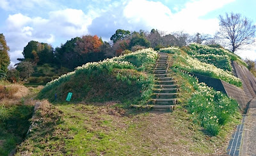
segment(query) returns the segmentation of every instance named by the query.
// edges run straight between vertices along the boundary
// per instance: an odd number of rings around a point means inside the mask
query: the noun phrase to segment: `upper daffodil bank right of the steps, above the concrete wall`
[[[217,78],[237,87],[242,85],[241,80],[232,75],[231,60],[237,60],[241,64],[244,62],[228,50],[193,43],[185,48],[161,48],[159,51],[172,53],[176,60],[172,66],[182,71]]]

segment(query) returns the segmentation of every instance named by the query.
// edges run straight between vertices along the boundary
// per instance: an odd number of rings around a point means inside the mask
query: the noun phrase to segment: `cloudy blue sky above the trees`
[[[0,0],[0,33],[13,65],[31,40],[56,48],[88,34],[109,41],[116,29],[214,35],[219,15],[241,13],[256,24],[255,8],[255,0]],[[237,55],[256,60],[256,46]]]

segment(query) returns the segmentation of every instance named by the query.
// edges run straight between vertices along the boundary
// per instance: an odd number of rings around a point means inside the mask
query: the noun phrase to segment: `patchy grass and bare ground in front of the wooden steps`
[[[16,155],[207,155],[215,150],[225,153],[223,144],[232,130],[225,125],[222,136],[209,138],[182,107],[173,113],[154,113],[124,110],[116,103],[43,103],[34,118],[33,131]],[[44,113],[46,110],[48,113]]]

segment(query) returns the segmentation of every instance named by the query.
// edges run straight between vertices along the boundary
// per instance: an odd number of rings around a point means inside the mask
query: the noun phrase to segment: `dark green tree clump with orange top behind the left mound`
[[[97,36],[83,36],[83,38],[72,38],[65,45],[56,48],[54,53],[54,64],[58,67],[67,67],[73,70],[87,62],[95,62],[105,59],[104,51],[100,50],[102,42]],[[108,45],[104,45],[104,48]],[[68,62],[68,63],[67,63]]]

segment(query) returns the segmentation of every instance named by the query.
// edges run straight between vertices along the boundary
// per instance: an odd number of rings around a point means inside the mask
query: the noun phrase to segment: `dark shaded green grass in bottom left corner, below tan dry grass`
[[[22,138],[29,128],[29,118],[31,118],[33,106],[4,106],[0,104],[0,155],[8,155]]]

